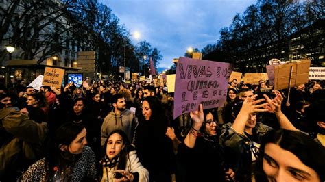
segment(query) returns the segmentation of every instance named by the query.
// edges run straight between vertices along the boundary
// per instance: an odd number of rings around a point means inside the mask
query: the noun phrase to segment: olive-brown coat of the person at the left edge
[[[0,181],[25,161],[38,159],[46,136],[45,122],[34,122],[12,108],[0,109]]]

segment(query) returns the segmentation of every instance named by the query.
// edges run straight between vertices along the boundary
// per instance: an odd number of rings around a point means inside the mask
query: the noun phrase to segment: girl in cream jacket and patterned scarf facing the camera
[[[121,129],[108,135],[103,152],[99,170],[101,181],[149,181],[149,172],[139,162],[135,148]]]

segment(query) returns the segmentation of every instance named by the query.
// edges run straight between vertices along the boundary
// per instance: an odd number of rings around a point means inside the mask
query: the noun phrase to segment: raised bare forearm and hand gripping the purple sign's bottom
[[[184,144],[186,144],[186,146],[189,148],[193,148],[195,145],[197,133],[204,121],[202,105],[200,104],[198,111],[191,112],[190,116],[193,120],[193,125],[189,133],[187,133],[186,138],[184,139]]]

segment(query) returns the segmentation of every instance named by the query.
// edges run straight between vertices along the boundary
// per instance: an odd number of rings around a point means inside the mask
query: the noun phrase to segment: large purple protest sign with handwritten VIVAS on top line
[[[232,66],[225,62],[180,57],[176,67],[173,118],[224,105]]]

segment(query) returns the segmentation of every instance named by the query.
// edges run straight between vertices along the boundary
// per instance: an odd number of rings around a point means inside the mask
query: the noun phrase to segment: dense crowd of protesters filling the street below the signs
[[[0,181],[325,181],[325,90],[232,80],[173,119],[152,83],[0,85]]]

